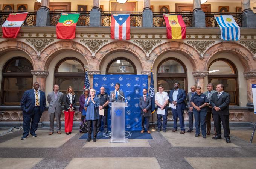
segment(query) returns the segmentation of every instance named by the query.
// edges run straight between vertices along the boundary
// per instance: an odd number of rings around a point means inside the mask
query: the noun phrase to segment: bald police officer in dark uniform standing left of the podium
[[[109,102],[109,96],[107,93],[105,93],[105,88],[100,88],[100,93],[97,95],[97,97],[100,100],[99,103],[99,109],[104,109],[104,116],[99,115],[99,120],[97,123],[97,132],[100,132],[101,128],[101,120],[103,121],[103,128],[105,132],[108,132],[108,102]]]

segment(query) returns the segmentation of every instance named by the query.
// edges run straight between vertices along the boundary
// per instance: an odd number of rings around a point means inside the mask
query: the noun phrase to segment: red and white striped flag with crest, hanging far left
[[[10,13],[5,23],[2,25],[3,38],[16,38],[27,14],[28,12]]]

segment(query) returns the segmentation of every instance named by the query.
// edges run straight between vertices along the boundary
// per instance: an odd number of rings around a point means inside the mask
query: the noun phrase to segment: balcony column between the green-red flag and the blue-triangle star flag
[[[93,8],[90,11],[90,26],[101,26],[101,9],[99,0],[93,0]]]

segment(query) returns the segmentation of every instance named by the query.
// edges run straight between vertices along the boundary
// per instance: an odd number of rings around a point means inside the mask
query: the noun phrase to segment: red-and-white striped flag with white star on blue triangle
[[[118,40],[130,39],[130,15],[129,14],[112,14],[111,38],[118,39]]]

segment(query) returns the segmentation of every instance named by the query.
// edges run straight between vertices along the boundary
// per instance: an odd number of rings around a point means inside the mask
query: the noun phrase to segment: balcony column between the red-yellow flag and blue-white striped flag
[[[200,0],[193,0],[192,27],[205,27],[205,14]]]

